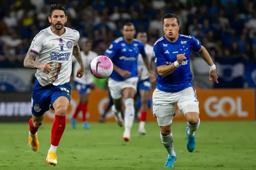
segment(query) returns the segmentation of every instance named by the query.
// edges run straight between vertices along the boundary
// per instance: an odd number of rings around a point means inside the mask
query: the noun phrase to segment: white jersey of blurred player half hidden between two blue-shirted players
[[[149,44],[146,44],[145,45],[145,52],[146,54],[148,55],[148,62],[150,63],[152,57],[153,57],[153,47],[150,46]],[[142,55],[139,54],[138,56],[138,71],[141,72],[141,77],[140,77],[140,80],[145,80],[145,79],[148,79],[149,78],[149,75],[148,75],[148,70],[143,62],[143,58],[142,58]]]

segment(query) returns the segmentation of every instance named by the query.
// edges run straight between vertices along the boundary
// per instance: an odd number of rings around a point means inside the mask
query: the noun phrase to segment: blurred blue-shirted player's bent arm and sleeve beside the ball
[[[118,51],[119,51],[118,44],[116,44],[115,42],[112,42],[109,48],[105,51],[104,55],[112,59],[113,57],[115,57]],[[121,68],[117,67],[114,63],[113,63],[113,70],[117,71],[117,73],[119,73],[124,78],[128,78],[131,75],[129,71],[122,70]]]

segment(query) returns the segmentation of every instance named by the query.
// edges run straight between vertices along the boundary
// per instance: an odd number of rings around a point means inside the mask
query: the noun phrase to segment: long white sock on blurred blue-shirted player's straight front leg
[[[124,135],[130,135],[132,124],[134,123],[134,99],[129,98],[124,101],[125,111],[124,111]]]

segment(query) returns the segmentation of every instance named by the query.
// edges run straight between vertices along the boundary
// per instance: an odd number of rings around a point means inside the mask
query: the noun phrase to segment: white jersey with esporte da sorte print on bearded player
[[[54,34],[51,27],[41,30],[33,39],[30,52],[37,54],[35,62],[48,64],[52,71],[46,74],[37,69],[35,77],[42,86],[53,84],[58,86],[69,82],[72,72],[73,47],[78,44],[79,33],[65,27],[63,35]]]

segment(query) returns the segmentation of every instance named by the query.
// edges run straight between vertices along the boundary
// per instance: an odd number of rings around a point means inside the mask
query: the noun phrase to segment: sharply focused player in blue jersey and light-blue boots
[[[188,126],[187,150],[195,149],[195,131],[200,124],[198,100],[191,80],[190,71],[191,51],[197,51],[210,66],[210,80],[218,83],[216,67],[208,51],[192,36],[179,35],[179,18],[174,14],[166,14],[163,19],[165,35],[154,44],[154,60],[158,71],[157,86],[153,93],[153,114],[160,126],[160,136],[168,152],[165,167],[173,167],[176,153],[173,148],[173,134],[171,123],[173,121],[175,103],[184,113]]]

